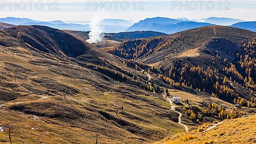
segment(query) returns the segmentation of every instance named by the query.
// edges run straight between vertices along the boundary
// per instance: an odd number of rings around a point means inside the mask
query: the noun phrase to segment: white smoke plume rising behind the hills
[[[102,41],[104,35],[100,23],[101,19],[99,17],[94,17],[92,20],[90,20],[89,39],[86,40],[88,43],[99,43]]]

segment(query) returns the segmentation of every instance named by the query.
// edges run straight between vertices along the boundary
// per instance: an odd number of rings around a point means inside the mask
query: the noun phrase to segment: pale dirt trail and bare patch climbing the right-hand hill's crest
[[[209,39],[209,40],[207,40],[206,42],[204,42],[203,43],[203,45],[202,46],[200,46],[200,47],[198,47],[198,48],[195,48],[195,49],[191,49],[191,50],[188,50],[188,51],[186,51],[186,52],[183,52],[181,55],[178,55],[178,56],[176,56],[176,57],[196,57],[196,56],[199,56],[200,55],[200,53],[199,53],[199,49],[201,49],[201,48],[203,48],[210,40],[212,40],[214,37],[215,37],[215,35],[216,35],[216,29],[215,29],[215,27],[213,28],[213,31],[214,31],[214,35]]]

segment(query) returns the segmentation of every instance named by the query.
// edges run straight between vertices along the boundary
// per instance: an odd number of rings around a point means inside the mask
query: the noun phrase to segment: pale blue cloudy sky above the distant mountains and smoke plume
[[[93,17],[135,22],[151,17],[186,17],[190,20],[230,17],[247,21],[256,20],[256,0],[34,0],[33,3],[28,1],[1,0],[0,17],[26,17],[42,21],[87,21]]]

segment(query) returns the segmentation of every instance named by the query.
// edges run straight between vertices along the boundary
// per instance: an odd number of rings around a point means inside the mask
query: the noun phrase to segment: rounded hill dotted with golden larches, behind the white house
[[[255,107],[251,101],[256,97],[255,40],[251,31],[207,26],[126,41],[106,51],[150,64],[151,73],[167,84],[207,92],[232,104],[235,98],[243,106],[250,101],[250,107]]]

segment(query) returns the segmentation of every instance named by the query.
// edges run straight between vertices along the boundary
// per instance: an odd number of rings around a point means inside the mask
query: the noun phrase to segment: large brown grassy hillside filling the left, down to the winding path
[[[96,134],[104,143],[145,143],[184,131],[169,103],[150,92],[140,72],[147,65],[45,26],[0,35],[1,142],[9,143],[9,125],[14,143],[38,144],[93,144]]]

